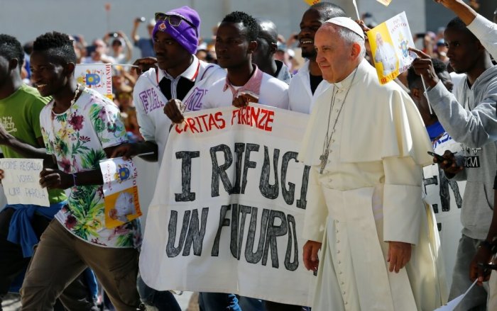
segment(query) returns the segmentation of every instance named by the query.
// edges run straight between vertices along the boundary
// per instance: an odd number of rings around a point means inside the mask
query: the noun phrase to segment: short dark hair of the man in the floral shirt
[[[50,55],[58,58],[60,62],[77,62],[75,48],[72,40],[65,33],[45,33],[35,39],[33,43],[33,52],[50,52]]]

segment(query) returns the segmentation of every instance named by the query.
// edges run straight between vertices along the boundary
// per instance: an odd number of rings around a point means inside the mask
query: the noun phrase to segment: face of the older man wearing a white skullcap
[[[315,48],[316,62],[320,66],[323,79],[329,83],[342,81],[349,75],[352,46],[340,38],[337,27],[325,24],[317,30]]]

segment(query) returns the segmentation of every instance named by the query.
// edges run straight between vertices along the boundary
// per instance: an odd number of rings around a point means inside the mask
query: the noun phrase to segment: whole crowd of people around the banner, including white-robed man
[[[496,310],[497,25],[462,0],[435,1],[458,17],[416,35],[417,59],[384,85],[365,34],[371,15],[354,21],[329,2],[302,12],[300,33],[288,40],[272,21],[240,11],[211,40],[200,38],[200,15],[188,6],[155,13],[150,38],[138,37],[146,20],[137,18],[134,67],[123,32],[89,46],[50,32],[22,47],[1,34],[1,149],[43,159],[50,207],[1,210],[0,301],[21,281],[22,310],[98,310],[98,286],[116,310],[180,310],[173,293],[139,276],[140,221],[105,225],[99,161],[143,154],[163,165],[169,130],[185,113],[260,103],[310,115],[298,159],[312,166],[317,189],[302,229],[302,261],[317,274],[312,310],[434,310],[475,280],[483,286],[457,310]],[[77,84],[80,63],[114,64],[113,101]],[[444,133],[460,152],[430,157]],[[427,251],[435,238],[426,234],[421,183],[432,162],[449,182],[466,180],[448,293],[440,259]],[[235,293],[198,300],[204,311],[309,310]]]

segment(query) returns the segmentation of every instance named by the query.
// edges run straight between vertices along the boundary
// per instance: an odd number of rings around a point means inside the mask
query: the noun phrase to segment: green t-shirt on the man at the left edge
[[[45,107],[50,98],[40,96],[38,91],[31,86],[23,84],[11,96],[0,99],[0,123],[13,137],[40,147],[38,137],[41,137],[40,111]],[[0,145],[6,158],[24,158],[10,147]],[[48,191],[50,203],[67,200],[62,189]]]

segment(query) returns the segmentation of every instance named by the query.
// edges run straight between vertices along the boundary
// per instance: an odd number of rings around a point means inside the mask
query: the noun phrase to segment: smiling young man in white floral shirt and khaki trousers
[[[70,188],[69,203],[41,237],[21,288],[23,310],[51,309],[55,299],[89,266],[117,310],[136,310],[139,222],[108,228],[99,161],[127,142],[119,109],[91,89],[77,85],[72,40],[62,33],[36,38],[31,72],[42,96],[53,101],[40,113],[48,153],[59,169],[43,169],[40,184]]]

